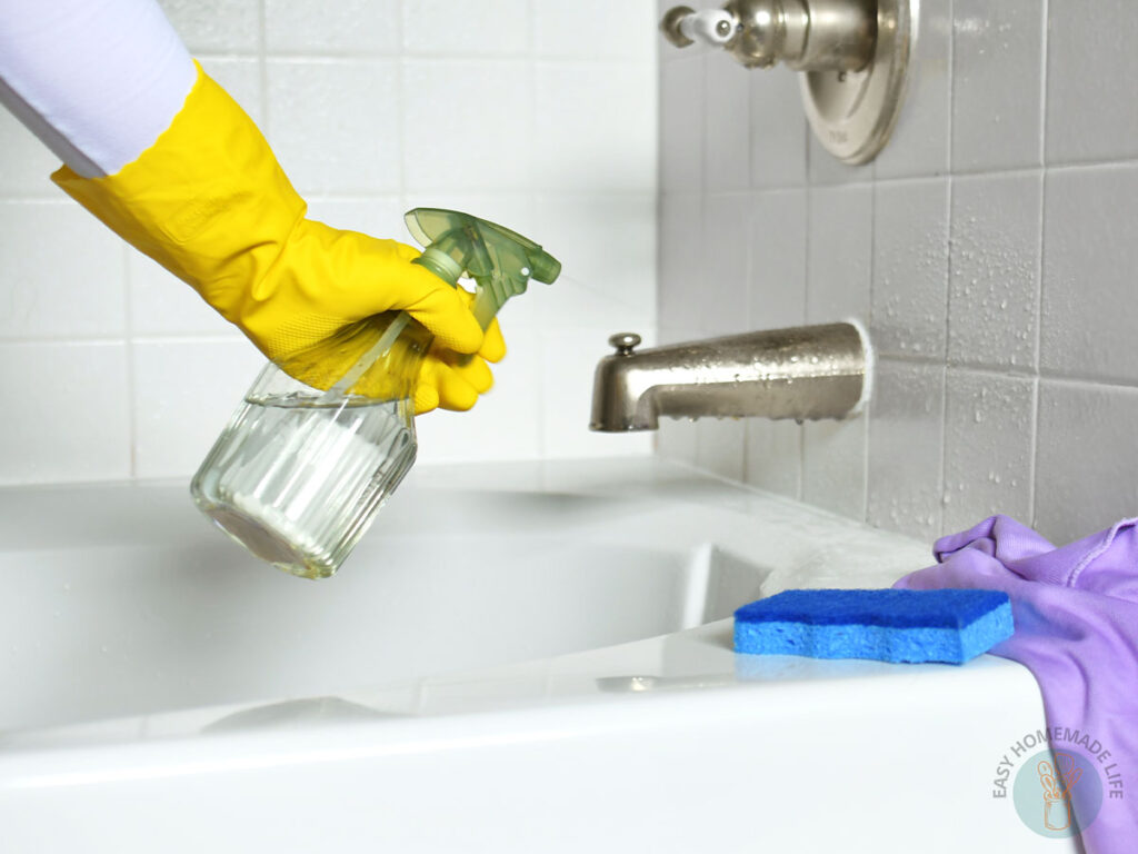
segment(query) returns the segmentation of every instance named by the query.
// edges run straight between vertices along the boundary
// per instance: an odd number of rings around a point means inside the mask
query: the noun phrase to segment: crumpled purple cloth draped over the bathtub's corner
[[[1049,728],[1078,728],[1111,752],[1104,764],[1095,763],[1103,781],[1102,808],[1089,827],[1080,822],[1088,854],[1138,851],[1136,525],[1138,519],[1124,519],[1056,549],[1014,519],[993,516],[938,540],[938,564],[894,585],[1003,590],[1011,597],[1015,634],[992,655],[1034,674]],[[1112,763],[1111,773],[1121,774],[1113,782],[1104,772]],[[1111,795],[1119,781],[1121,798]],[[1072,800],[1078,816],[1079,799]]]

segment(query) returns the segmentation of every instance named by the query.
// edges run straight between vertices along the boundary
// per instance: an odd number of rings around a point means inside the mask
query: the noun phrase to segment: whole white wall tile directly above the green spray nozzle
[[[404,61],[406,190],[531,189],[531,73],[521,61]]]

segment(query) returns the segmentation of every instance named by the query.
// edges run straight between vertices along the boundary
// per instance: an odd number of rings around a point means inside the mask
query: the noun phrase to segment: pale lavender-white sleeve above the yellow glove
[[[0,0],[0,102],[84,178],[154,145],[196,80],[156,0]]]

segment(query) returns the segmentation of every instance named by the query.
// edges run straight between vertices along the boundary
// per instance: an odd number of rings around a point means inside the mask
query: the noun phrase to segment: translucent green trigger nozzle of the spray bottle
[[[541,246],[489,220],[438,207],[413,208],[403,220],[423,247],[417,263],[451,285],[463,274],[477,282],[471,311],[483,329],[530,279],[550,285],[561,273],[561,262]]]

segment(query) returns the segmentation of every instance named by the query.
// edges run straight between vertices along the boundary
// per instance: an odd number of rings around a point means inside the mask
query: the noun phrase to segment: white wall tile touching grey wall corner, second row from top
[[[644,192],[655,184],[654,69],[643,63],[538,63],[535,171],[541,189]],[[611,129],[599,133],[597,129]]]

